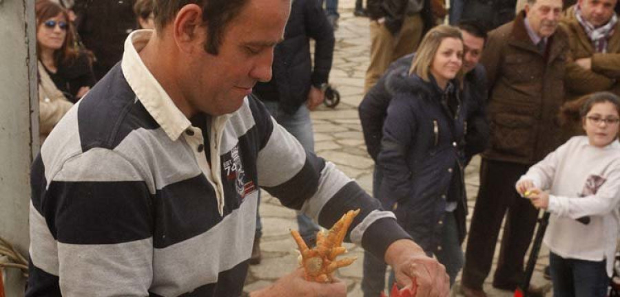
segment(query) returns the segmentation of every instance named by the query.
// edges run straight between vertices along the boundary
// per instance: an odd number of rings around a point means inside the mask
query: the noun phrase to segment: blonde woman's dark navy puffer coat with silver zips
[[[455,116],[440,102],[443,92],[434,80],[410,76],[409,68],[386,77],[393,98],[384,123],[378,163],[384,179],[381,199],[395,199],[397,221],[428,253],[440,248],[448,197],[457,203],[459,241],[466,234],[463,167],[466,116],[477,104],[468,92],[457,91]],[[453,177],[458,192],[451,190]]]

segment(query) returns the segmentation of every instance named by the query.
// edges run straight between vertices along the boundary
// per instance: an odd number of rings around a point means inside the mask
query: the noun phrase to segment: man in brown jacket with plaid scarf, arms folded
[[[566,64],[569,100],[597,91],[620,95],[620,23],[617,0],[580,0],[566,11],[561,28],[568,34]]]

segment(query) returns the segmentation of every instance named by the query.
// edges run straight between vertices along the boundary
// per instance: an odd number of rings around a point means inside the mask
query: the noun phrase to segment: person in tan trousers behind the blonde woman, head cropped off
[[[434,25],[429,0],[368,0],[371,59],[364,92],[377,83],[390,63],[415,52]]]

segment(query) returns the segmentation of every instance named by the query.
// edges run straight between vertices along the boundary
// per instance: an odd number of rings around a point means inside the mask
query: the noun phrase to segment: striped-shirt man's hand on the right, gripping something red
[[[415,279],[416,297],[445,297],[450,293],[446,267],[426,256],[420,245],[409,239],[394,241],[385,252],[385,261],[393,267],[399,285],[410,285]]]

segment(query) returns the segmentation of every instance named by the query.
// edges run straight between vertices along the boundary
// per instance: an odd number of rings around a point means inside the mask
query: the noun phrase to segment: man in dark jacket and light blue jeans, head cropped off
[[[316,41],[314,67],[310,39]],[[273,78],[254,87],[254,94],[258,95],[278,124],[311,152],[314,152],[314,136],[310,110],[324,100],[333,45],[333,30],[318,1],[294,0],[284,41],[273,52]],[[297,221],[304,240],[312,243],[319,230],[318,225],[303,214],[298,215]],[[260,238],[260,221],[257,226],[257,238]],[[255,242],[255,248],[258,248],[258,240]],[[256,256],[257,252],[254,252]]]

